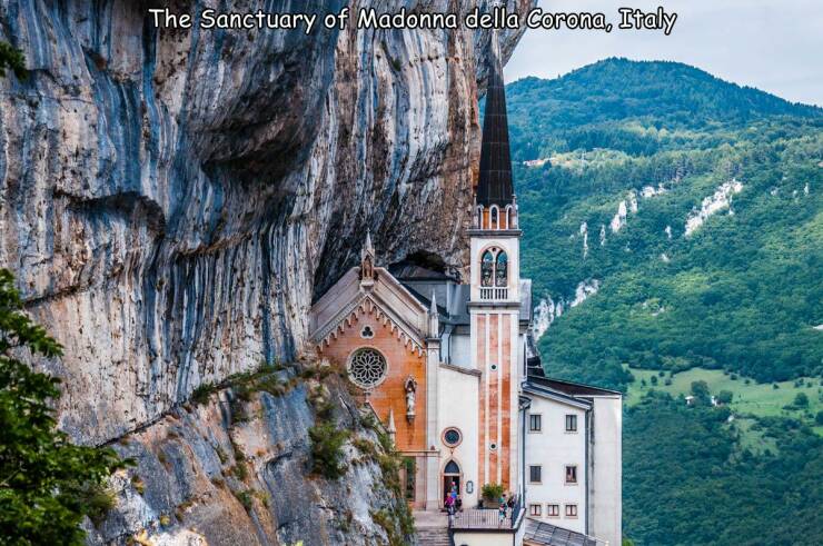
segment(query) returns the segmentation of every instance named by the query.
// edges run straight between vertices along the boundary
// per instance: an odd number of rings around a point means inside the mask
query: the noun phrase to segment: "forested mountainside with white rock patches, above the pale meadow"
[[[516,166],[535,295],[599,288],[542,338],[553,373],[821,374],[822,110],[625,60],[518,81],[508,103],[515,157],[547,159]]]

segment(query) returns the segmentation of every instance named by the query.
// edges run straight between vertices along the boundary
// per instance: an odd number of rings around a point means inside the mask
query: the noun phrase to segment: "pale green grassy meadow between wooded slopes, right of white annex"
[[[716,395],[721,390],[730,390],[734,394],[731,408],[735,415],[756,417],[785,416],[796,417],[809,420],[807,413],[811,413],[812,419],[817,411],[823,409],[823,387],[820,379],[803,378],[801,386],[795,386],[795,381],[782,381],[774,388],[773,384],[757,384],[745,377],[725,375],[722,370],[693,368],[671,377],[671,385],[665,385],[670,377],[668,373],[661,377],[656,370],[631,369],[635,380],[628,387],[626,404],[632,406],[639,401],[641,397],[651,388],[670,393],[672,396],[688,395],[692,389],[692,381],[706,381],[708,390]],[[652,385],[652,376],[657,376],[657,386]],[[643,385],[645,380],[645,386]],[[809,397],[807,410],[789,410],[783,409],[794,401],[797,393],[805,393]],[[810,423],[811,424],[811,423]],[[815,427],[815,430],[823,435],[823,427]]]

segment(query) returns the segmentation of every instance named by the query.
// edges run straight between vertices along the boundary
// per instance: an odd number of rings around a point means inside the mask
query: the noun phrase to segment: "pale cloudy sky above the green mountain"
[[[677,13],[662,30],[619,30],[621,7]],[[823,0],[539,0],[552,12],[603,12],[615,28],[528,29],[506,80],[555,78],[607,57],[685,62],[786,100],[823,106]]]

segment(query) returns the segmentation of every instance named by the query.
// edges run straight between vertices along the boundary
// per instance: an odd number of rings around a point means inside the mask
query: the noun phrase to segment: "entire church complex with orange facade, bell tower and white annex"
[[[439,512],[457,490],[454,544],[497,544],[498,533],[500,544],[565,544],[551,539],[563,535],[618,545],[622,397],[546,377],[534,348],[493,34],[469,278],[386,267],[367,235],[360,265],[314,304],[311,339],[409,460],[412,507]],[[478,509],[497,505],[483,498],[487,485],[513,499],[504,523]]]

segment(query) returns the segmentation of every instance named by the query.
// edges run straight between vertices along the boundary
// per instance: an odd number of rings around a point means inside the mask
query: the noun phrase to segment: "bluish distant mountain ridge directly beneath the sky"
[[[525,78],[507,86],[506,96],[513,153],[520,160],[577,148],[648,155],[685,142],[711,147],[728,137],[713,130],[724,123],[823,115],[687,64],[626,59],[603,60],[554,80]],[[673,135],[674,129],[680,131]]]

